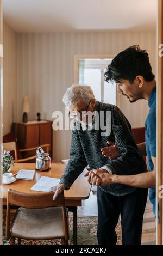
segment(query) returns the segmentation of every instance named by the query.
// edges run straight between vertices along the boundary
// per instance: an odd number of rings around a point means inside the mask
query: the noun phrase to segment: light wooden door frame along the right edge
[[[156,245],[163,245],[162,237],[162,198],[159,198],[160,189],[163,184],[163,56],[159,54],[160,44],[163,44],[163,0],[158,0],[157,20],[157,162],[156,162]],[[161,47],[162,48],[162,47]],[[159,211],[158,211],[159,207]]]

